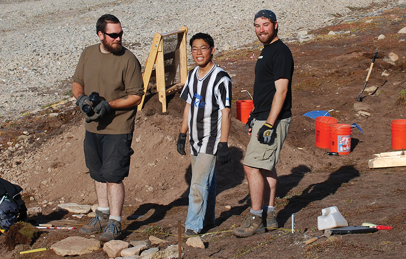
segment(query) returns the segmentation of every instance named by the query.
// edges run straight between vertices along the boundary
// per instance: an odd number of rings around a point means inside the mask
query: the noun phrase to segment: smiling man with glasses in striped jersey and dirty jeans
[[[190,39],[197,66],[189,72],[181,98],[186,101],[177,150],[186,155],[189,130],[192,180],[185,236],[198,235],[215,223],[216,156],[220,164],[230,162],[228,132],[231,122],[231,79],[213,63],[214,41],[206,33]]]

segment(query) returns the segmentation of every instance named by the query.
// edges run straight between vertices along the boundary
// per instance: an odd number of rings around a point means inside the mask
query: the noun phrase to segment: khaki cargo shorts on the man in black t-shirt
[[[274,128],[276,130],[272,134],[272,141],[268,144],[261,144],[258,141],[258,130],[264,125],[266,121],[257,121],[254,119],[254,125],[252,126],[252,134],[250,142],[247,146],[247,152],[245,154],[243,164],[254,168],[263,168],[266,170],[272,170],[278,163],[279,154],[282,149],[283,142],[290,127],[292,118],[277,120]]]

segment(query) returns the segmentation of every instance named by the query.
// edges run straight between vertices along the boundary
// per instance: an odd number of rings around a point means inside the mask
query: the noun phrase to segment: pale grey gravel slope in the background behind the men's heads
[[[292,36],[382,3],[391,5],[383,0],[0,0],[0,122],[68,97],[80,53],[98,42],[95,23],[106,13],[121,20],[124,45],[144,64],[154,33],[182,25],[189,28],[188,39],[207,32],[222,51],[256,40],[253,16],[264,8],[275,11],[279,34]]]

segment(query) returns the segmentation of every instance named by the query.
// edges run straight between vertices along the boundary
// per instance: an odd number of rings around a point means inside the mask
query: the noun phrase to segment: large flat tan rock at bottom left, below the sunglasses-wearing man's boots
[[[51,245],[56,254],[83,255],[100,249],[100,242],[93,238],[68,237]]]

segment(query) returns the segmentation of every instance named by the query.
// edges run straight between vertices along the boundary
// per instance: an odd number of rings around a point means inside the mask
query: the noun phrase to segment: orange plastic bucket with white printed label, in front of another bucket
[[[351,125],[330,124],[330,152],[337,152],[339,155],[351,153]]]

